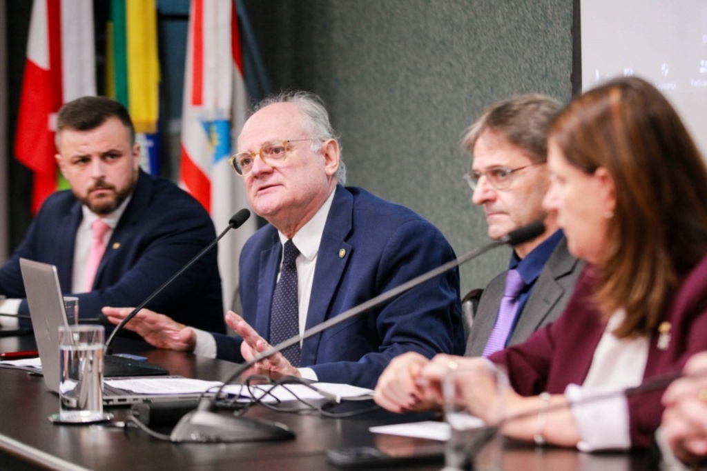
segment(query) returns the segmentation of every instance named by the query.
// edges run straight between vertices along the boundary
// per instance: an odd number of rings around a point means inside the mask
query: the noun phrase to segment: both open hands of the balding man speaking
[[[108,321],[118,324],[133,311],[132,307],[104,307],[103,314]],[[243,338],[240,344],[240,354],[246,362],[251,362],[255,357],[269,349],[270,345],[253,329],[242,317],[233,311],[226,314],[226,323],[233,331]],[[193,352],[197,345],[197,334],[194,330],[182,323],[174,321],[164,314],[141,309],[124,328],[141,335],[150,345],[182,352]],[[289,376],[300,376],[299,370],[279,352],[271,354],[255,365],[257,369],[274,371]]]

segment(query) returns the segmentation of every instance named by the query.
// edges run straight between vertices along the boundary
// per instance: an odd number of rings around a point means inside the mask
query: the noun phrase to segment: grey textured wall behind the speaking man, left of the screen
[[[320,93],[349,184],[435,223],[457,254],[486,224],[462,180],[462,133],[496,100],[571,97],[571,0],[247,0],[275,88]],[[500,250],[462,270],[462,290],[502,270]]]

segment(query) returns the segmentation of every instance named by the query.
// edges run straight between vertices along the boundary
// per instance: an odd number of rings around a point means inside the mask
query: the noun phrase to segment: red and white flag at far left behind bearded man
[[[93,0],[35,0],[18,112],[15,155],[34,172],[32,213],[57,189],[56,114],[95,95]]]

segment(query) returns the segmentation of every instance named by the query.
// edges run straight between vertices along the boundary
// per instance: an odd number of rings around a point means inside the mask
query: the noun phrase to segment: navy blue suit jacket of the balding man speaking
[[[363,189],[337,186],[317,256],[306,328],[312,328],[455,258],[443,235],[411,210]],[[270,306],[281,259],[267,225],[240,256],[243,318],[270,337]],[[373,388],[390,359],[464,351],[459,273],[450,270],[303,342],[300,366],[320,381]],[[240,338],[215,335],[217,357],[243,362]]]

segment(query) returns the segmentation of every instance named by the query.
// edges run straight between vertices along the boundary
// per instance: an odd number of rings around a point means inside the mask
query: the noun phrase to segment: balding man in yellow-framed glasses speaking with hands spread
[[[339,142],[321,100],[286,93],[262,102],[243,126],[231,163],[268,225],[240,255],[239,336],[209,334],[141,311],[126,324],[158,347],[233,362],[250,360],[455,258],[422,217],[363,189],[344,187]],[[118,323],[132,309],[105,308]],[[257,366],[292,376],[373,388],[404,352],[431,358],[464,351],[458,270],[449,270],[271,355]]]

